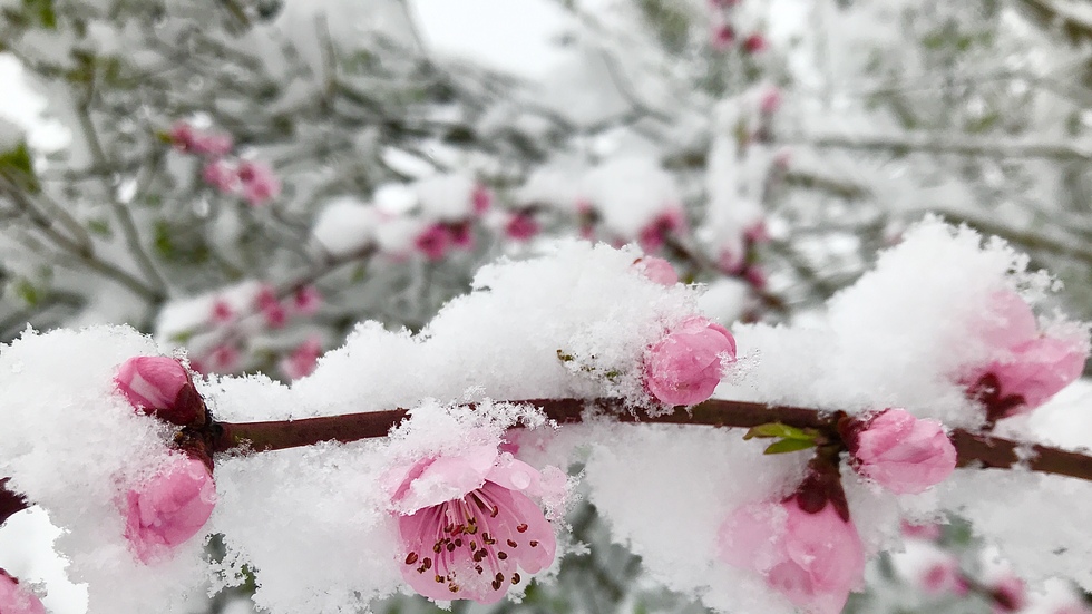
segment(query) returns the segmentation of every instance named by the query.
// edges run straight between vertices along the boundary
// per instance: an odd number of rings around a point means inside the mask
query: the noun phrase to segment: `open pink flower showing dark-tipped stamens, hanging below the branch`
[[[554,561],[554,529],[528,496],[547,495],[549,480],[495,446],[426,458],[384,483],[406,549],[402,577],[426,597],[495,603],[520,571]]]

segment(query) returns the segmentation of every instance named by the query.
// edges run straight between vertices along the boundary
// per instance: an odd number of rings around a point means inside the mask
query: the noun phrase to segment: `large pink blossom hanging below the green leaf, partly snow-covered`
[[[721,525],[720,557],[757,572],[809,614],[837,614],[860,584],[865,549],[835,505],[809,513],[800,500],[793,495],[737,509]]]

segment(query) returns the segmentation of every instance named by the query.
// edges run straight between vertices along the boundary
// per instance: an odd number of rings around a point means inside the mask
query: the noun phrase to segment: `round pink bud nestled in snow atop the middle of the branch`
[[[732,333],[695,315],[645,351],[645,387],[664,403],[700,403],[720,383],[724,364],[734,360]]]

